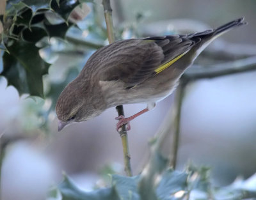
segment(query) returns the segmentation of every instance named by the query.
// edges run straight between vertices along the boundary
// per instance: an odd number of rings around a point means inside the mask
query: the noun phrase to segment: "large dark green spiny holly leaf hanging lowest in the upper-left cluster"
[[[4,52],[3,75],[8,85],[13,85],[19,94],[29,93],[32,96],[44,97],[42,76],[50,66],[39,55],[38,48],[33,43],[22,40],[14,41],[7,47],[10,54]]]

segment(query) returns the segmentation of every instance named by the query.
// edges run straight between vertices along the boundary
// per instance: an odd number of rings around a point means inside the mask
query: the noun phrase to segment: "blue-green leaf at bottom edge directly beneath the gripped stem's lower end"
[[[139,176],[127,177],[120,175],[112,176],[112,184],[120,199],[139,200],[138,181]]]

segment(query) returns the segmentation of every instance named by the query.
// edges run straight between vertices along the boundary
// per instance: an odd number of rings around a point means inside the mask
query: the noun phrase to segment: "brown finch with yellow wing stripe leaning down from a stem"
[[[129,121],[173,92],[182,73],[212,40],[246,24],[243,20],[189,35],[121,40],[97,50],[58,98],[58,131],[70,123],[94,118],[110,107],[147,103],[146,109],[129,118],[116,118],[117,130],[124,124],[129,130]]]

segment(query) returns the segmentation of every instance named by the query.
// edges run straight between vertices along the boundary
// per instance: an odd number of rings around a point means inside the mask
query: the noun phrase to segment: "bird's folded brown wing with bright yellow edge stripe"
[[[100,65],[95,70],[100,81],[120,80],[132,88],[172,65],[195,43],[180,35],[122,40],[98,50],[88,62]]]

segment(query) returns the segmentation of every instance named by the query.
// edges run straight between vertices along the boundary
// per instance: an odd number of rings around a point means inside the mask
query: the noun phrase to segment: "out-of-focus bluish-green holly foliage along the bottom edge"
[[[77,188],[68,176],[51,191],[52,199],[79,200],[79,199],[122,199],[144,200],[138,190],[142,175],[126,177],[111,175],[111,186],[100,188],[92,192],[84,192]],[[186,171],[166,169],[154,183],[156,199],[245,199],[256,197],[256,177],[245,181],[235,181],[226,187],[213,187],[209,176],[209,168],[196,167],[189,164]],[[148,188],[149,189],[149,188]],[[149,192],[149,190],[145,190]],[[57,194],[59,194],[57,198]],[[61,197],[60,197],[61,196]]]

